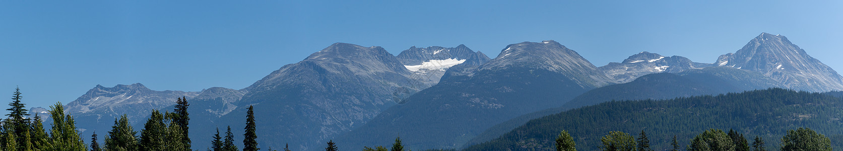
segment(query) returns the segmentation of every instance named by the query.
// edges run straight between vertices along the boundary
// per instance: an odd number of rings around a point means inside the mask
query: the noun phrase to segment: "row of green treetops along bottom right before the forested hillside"
[[[562,131],[556,138],[556,151],[577,151],[574,139],[567,131]],[[653,151],[650,148],[650,141],[647,133],[642,131],[638,138],[626,132],[612,131],[600,138],[600,150],[603,151]],[[781,137],[781,151],[831,151],[831,141],[823,134],[814,132],[810,128],[799,127],[796,130],[788,130],[784,137]],[[674,136],[670,143],[673,148],[670,151],[679,151],[679,143]],[[696,135],[685,147],[687,151],[767,151],[765,140],[755,136],[750,148],[744,134],[734,130],[723,132],[719,129],[708,129]]]

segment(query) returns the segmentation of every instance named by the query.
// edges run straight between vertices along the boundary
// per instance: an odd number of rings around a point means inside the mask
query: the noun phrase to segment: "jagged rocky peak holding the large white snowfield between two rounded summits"
[[[471,51],[464,45],[453,48],[442,46],[416,48],[416,46],[412,46],[406,51],[401,51],[397,57],[412,72],[411,78],[418,79],[431,86],[439,83],[439,79],[442,78],[449,67],[458,64],[480,66],[491,60],[486,57],[486,54],[480,51]]]

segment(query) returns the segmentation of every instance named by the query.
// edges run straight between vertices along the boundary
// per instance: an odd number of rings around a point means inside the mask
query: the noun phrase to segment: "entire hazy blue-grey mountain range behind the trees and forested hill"
[[[462,148],[529,119],[604,101],[771,87],[843,90],[843,77],[784,36],[766,33],[714,63],[644,51],[603,67],[553,40],[508,45],[493,59],[463,45],[413,46],[394,56],[378,46],[336,43],[244,89],[97,85],[66,110],[83,135],[108,132],[122,114],[140,130],[149,111],[171,110],[184,96],[191,103],[193,149],[209,147],[216,127],[231,126],[242,136],[250,105],[262,148],[289,143],[294,150],[318,150],[333,139],[357,149],[385,146],[398,136],[414,149]]]

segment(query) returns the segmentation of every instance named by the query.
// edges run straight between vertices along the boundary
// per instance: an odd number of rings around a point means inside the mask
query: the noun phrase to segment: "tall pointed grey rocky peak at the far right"
[[[843,89],[843,77],[808,56],[784,35],[761,33],[735,53],[717,58],[717,66],[762,73],[789,89],[824,92]]]

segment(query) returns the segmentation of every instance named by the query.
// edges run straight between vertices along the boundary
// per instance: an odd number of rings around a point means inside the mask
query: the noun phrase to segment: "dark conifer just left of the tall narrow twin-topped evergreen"
[[[146,124],[143,124],[139,148],[141,150],[164,150],[166,132],[164,115],[157,110],[153,110],[152,116],[149,117]]]

